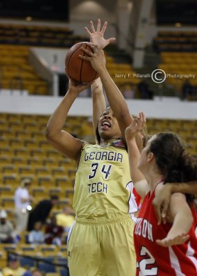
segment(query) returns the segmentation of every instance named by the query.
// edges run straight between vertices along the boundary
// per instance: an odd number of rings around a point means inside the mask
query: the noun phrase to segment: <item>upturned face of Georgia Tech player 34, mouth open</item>
[[[98,132],[104,140],[121,137],[118,121],[110,107],[103,111],[98,121]]]

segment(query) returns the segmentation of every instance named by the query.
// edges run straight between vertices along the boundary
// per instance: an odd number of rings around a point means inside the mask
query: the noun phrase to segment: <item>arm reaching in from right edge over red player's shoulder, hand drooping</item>
[[[158,224],[160,224],[161,221],[165,223],[166,213],[169,208],[172,193],[197,195],[197,181],[190,181],[187,183],[166,183],[162,188],[160,188],[153,201]]]

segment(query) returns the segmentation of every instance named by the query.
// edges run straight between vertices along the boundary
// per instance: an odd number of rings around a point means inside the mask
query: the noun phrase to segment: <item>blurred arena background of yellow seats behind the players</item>
[[[0,236],[8,232],[5,219],[12,225],[6,242],[5,235],[0,237],[1,268],[9,268],[12,252],[19,254],[12,260],[19,268],[37,266],[48,276],[69,275],[66,239],[74,217],[76,166],[48,144],[44,132],[68,89],[65,55],[74,43],[89,41],[84,27],[90,20],[95,26],[98,18],[108,21],[105,38],[116,37],[105,48],[107,69],[130,112],[143,110],[150,135],[172,130],[197,156],[196,0],[0,0]],[[90,89],[81,93],[65,127],[94,143],[91,101]],[[28,189],[24,179],[30,182]],[[35,226],[43,232],[39,242],[29,239],[30,230],[17,230],[17,189],[28,201],[28,213],[43,201],[58,199],[41,226]],[[63,223],[55,221],[58,215]],[[57,224],[63,227],[61,246],[44,238]],[[18,268],[10,269],[14,275]]]

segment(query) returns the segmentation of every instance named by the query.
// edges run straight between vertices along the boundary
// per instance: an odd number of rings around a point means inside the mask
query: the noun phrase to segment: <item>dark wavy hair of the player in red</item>
[[[183,142],[173,132],[160,132],[149,147],[154,153],[156,164],[165,176],[164,184],[188,182],[197,179],[196,158],[189,155]],[[187,195],[187,201],[193,196]]]

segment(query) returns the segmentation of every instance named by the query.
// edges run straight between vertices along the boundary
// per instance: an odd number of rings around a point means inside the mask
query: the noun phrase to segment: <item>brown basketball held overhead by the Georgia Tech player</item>
[[[79,57],[79,55],[87,56],[81,50],[82,47],[93,52],[89,44],[90,42],[76,43],[68,50],[65,56],[65,72],[71,79],[80,83],[89,83],[99,77],[98,73],[92,68],[90,61]]]

